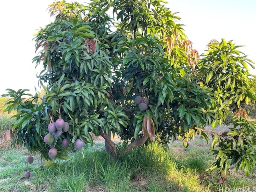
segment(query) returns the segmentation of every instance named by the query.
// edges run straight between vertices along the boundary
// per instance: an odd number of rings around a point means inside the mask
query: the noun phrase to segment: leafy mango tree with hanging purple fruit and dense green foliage
[[[226,174],[235,164],[248,175],[256,162],[255,123],[238,113],[225,134],[204,127],[222,124],[230,104],[255,100],[253,62],[224,39],[199,56],[180,18],[163,3],[51,4],[55,21],[34,38],[44,96],[24,100],[26,90],[11,89],[4,95],[12,97],[6,111],[18,112],[14,142],[50,160],[93,145],[92,133],[105,139],[112,155],[178,138],[187,147],[196,134],[208,141],[210,133],[216,162],[209,170]],[[127,144],[124,150],[117,151],[111,134]]]

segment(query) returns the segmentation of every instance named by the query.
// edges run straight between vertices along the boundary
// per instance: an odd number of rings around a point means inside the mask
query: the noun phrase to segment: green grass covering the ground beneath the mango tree
[[[202,147],[204,146],[204,147]],[[119,145],[119,150],[122,146]],[[84,151],[70,152],[70,160],[54,160],[44,167],[40,154],[27,163],[24,148],[0,149],[1,192],[212,192],[234,189],[256,190],[255,173],[230,170],[228,180],[218,184],[217,172],[204,172],[213,162],[204,141],[194,140],[188,148],[175,141],[170,149],[152,144],[125,156],[106,155],[104,143]],[[31,176],[24,178],[29,170]]]

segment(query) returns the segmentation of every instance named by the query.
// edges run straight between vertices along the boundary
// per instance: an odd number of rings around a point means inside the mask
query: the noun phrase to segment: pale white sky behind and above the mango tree
[[[38,90],[32,59],[35,52],[34,38],[37,29],[53,21],[48,5],[53,0],[12,0],[1,2],[0,18],[0,95],[6,89]],[[67,2],[71,2],[67,0]],[[74,1],[73,1],[74,2]],[[89,2],[77,0],[79,3]],[[184,24],[185,34],[193,42],[193,48],[202,54],[212,39],[234,40],[248,58],[256,62],[256,1],[255,0],[168,0],[166,5],[178,12]],[[256,74],[256,70],[251,71]]]

